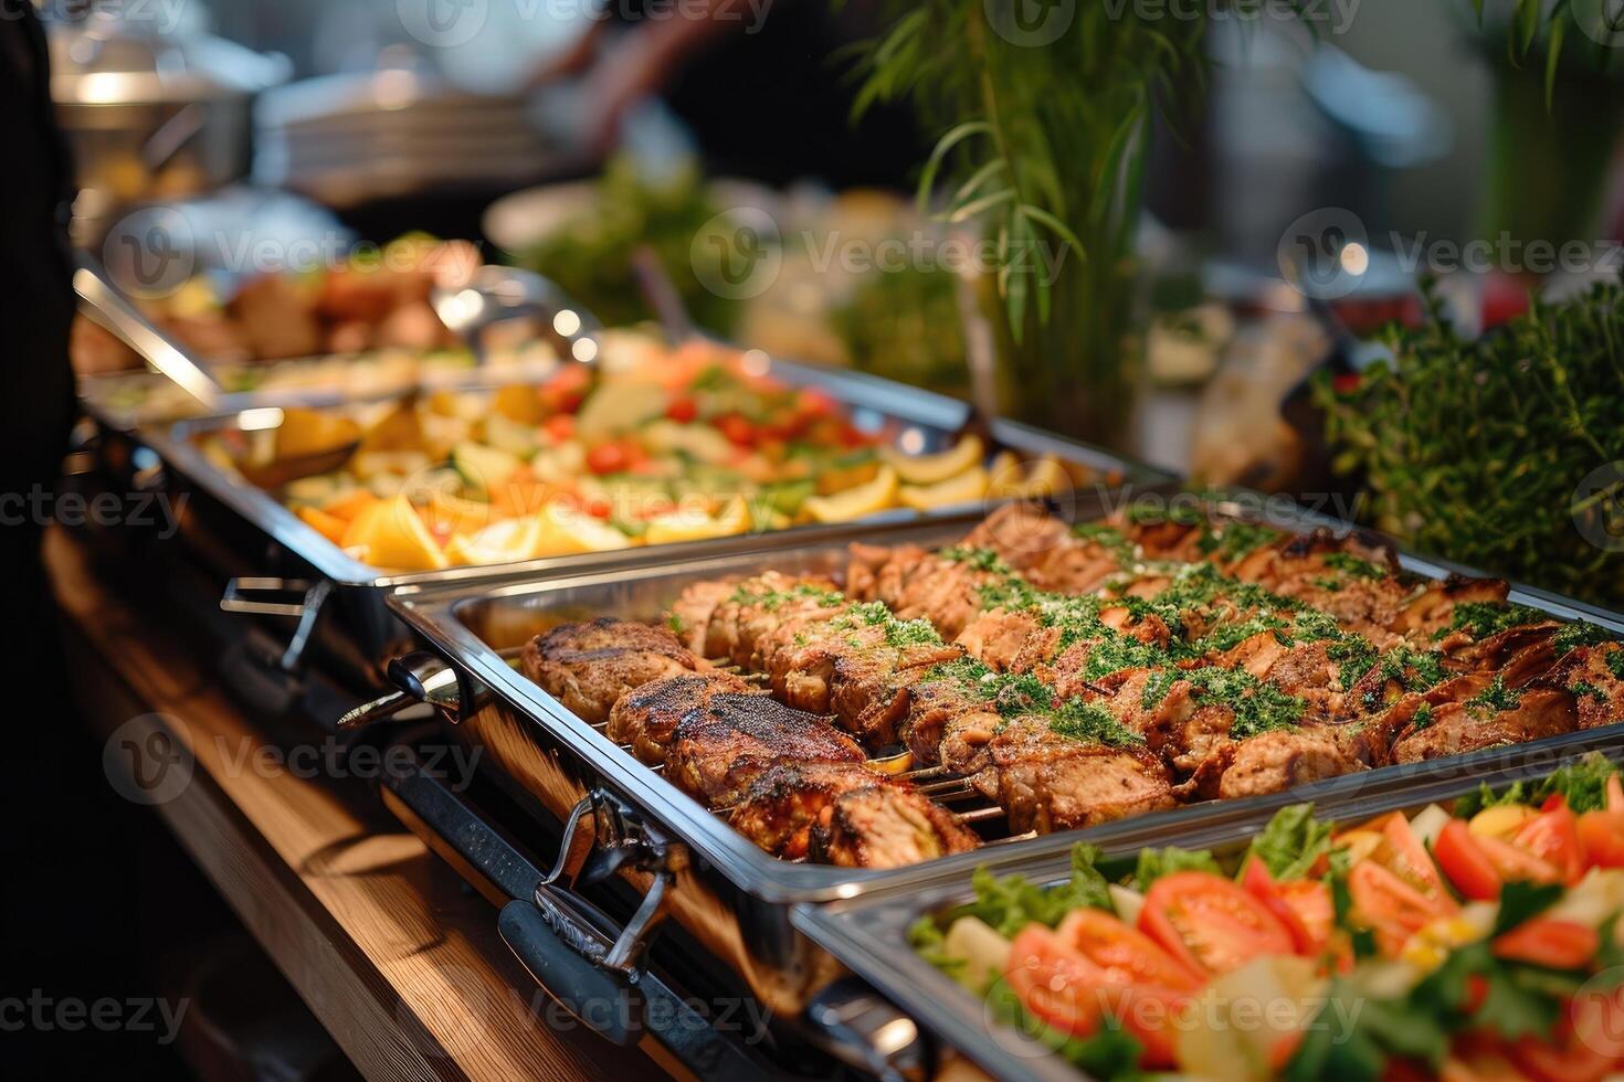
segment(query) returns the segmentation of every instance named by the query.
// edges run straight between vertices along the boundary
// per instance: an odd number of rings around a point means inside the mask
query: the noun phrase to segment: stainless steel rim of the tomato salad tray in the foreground
[[[1418,811],[1475,792],[1478,785],[1502,788],[1518,780],[1540,779],[1574,759],[1600,751],[1624,761],[1624,732],[1608,728],[1572,733],[1548,743],[1536,756],[1483,762],[1478,771],[1434,771],[1434,764],[1398,767],[1405,782],[1380,792],[1309,793],[1298,792],[1293,803],[1312,800],[1314,813],[1328,821],[1363,821],[1389,811]],[[1479,756],[1473,756],[1475,759]],[[1192,809],[1194,811],[1194,809]],[[1244,845],[1273,814],[1247,809],[1221,818],[1173,813],[1161,822],[1137,821],[1137,829],[1096,834],[1088,840],[1104,855],[1134,857],[1148,847],[1176,840],[1182,848],[1234,850]],[[1064,882],[1070,852],[1078,835],[1052,835],[1005,852],[987,853],[976,866],[994,874],[1021,874],[1030,882]],[[1043,1043],[997,1024],[986,1004],[965,986],[919,957],[908,944],[908,928],[921,917],[947,912],[974,899],[970,873],[942,868],[921,882],[870,891],[861,897],[802,905],[791,923],[818,947],[828,951],[857,977],[929,1030],[942,1045],[955,1048],[1000,1082],[1077,1082],[1082,1072],[1052,1054]]]

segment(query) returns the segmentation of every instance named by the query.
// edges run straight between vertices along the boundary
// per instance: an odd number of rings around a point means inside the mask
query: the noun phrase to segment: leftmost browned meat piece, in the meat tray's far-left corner
[[[526,676],[593,725],[632,688],[702,667],[666,628],[612,616],[560,625],[531,639],[521,657]]]

